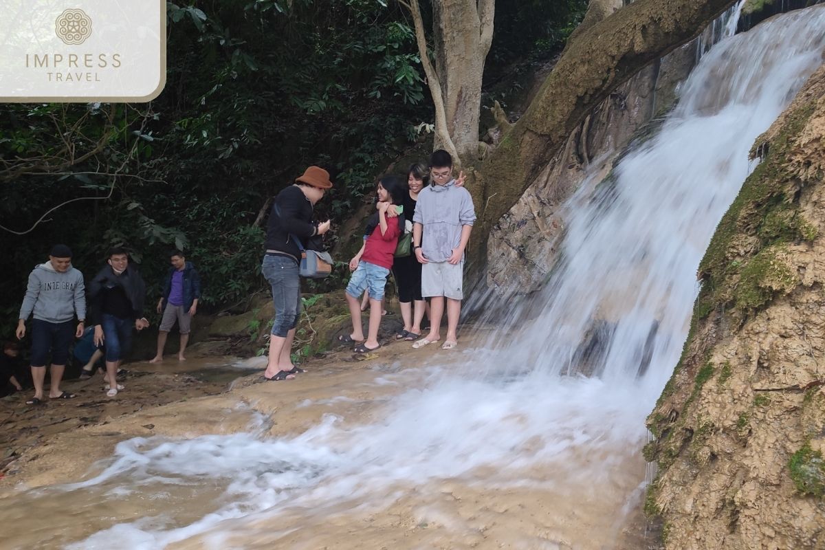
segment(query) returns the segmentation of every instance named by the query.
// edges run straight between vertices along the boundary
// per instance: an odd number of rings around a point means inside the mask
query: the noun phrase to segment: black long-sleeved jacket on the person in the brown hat
[[[280,212],[280,214],[279,214]],[[318,228],[312,223],[312,203],[298,186],[289,186],[281,190],[272,204],[269,222],[266,226],[266,250],[276,250],[295,258],[301,252],[290,233],[306,243],[306,239],[317,233]]]

